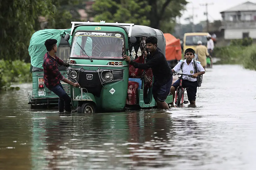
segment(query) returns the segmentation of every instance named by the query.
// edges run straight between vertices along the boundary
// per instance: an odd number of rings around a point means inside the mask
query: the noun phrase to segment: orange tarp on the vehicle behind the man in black
[[[170,33],[164,33],[166,48],[165,48],[165,57],[167,61],[170,60],[181,60],[181,45],[180,39],[175,38]]]

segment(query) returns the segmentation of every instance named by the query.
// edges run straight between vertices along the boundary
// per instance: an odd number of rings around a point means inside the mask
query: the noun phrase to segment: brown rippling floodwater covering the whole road
[[[0,95],[1,170],[256,169],[256,71],[214,65],[196,108],[60,116]]]

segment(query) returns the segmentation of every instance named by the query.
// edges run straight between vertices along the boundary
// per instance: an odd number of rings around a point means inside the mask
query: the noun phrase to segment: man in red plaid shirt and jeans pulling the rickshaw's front
[[[47,53],[43,57],[43,81],[45,86],[59,96],[59,112],[64,112],[64,107],[66,112],[71,113],[71,98],[64,91],[61,81],[73,85],[74,87],[80,87],[78,83],[73,83],[61,75],[58,70],[58,64],[63,66],[68,66],[61,59],[59,59],[55,53],[57,52],[57,40],[48,39],[44,43]]]

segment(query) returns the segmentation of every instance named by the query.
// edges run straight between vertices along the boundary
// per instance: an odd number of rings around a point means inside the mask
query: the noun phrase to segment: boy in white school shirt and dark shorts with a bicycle
[[[195,51],[191,48],[186,49],[185,51],[185,57],[186,59],[183,61],[180,61],[173,69],[172,72],[176,73],[182,70],[183,74],[189,74],[192,75],[193,78],[183,75],[182,76],[182,87],[187,88],[187,97],[190,102],[190,105],[195,105],[195,96],[197,92],[197,76],[202,75],[205,73],[205,70],[203,66],[200,64],[200,62],[196,62],[197,64],[197,73],[195,73],[194,69],[194,61],[193,58],[195,57]],[[176,82],[173,83],[171,87],[171,93],[173,96],[175,96],[175,91],[177,90],[177,87],[180,85],[180,80],[178,79]],[[174,97],[173,97],[174,101]],[[173,104],[172,104],[173,105]]]

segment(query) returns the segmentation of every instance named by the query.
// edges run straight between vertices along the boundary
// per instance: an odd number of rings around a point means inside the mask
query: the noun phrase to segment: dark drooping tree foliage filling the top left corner
[[[49,15],[50,0],[9,0],[0,2],[0,59],[22,59],[28,55],[29,39],[40,15]]]

